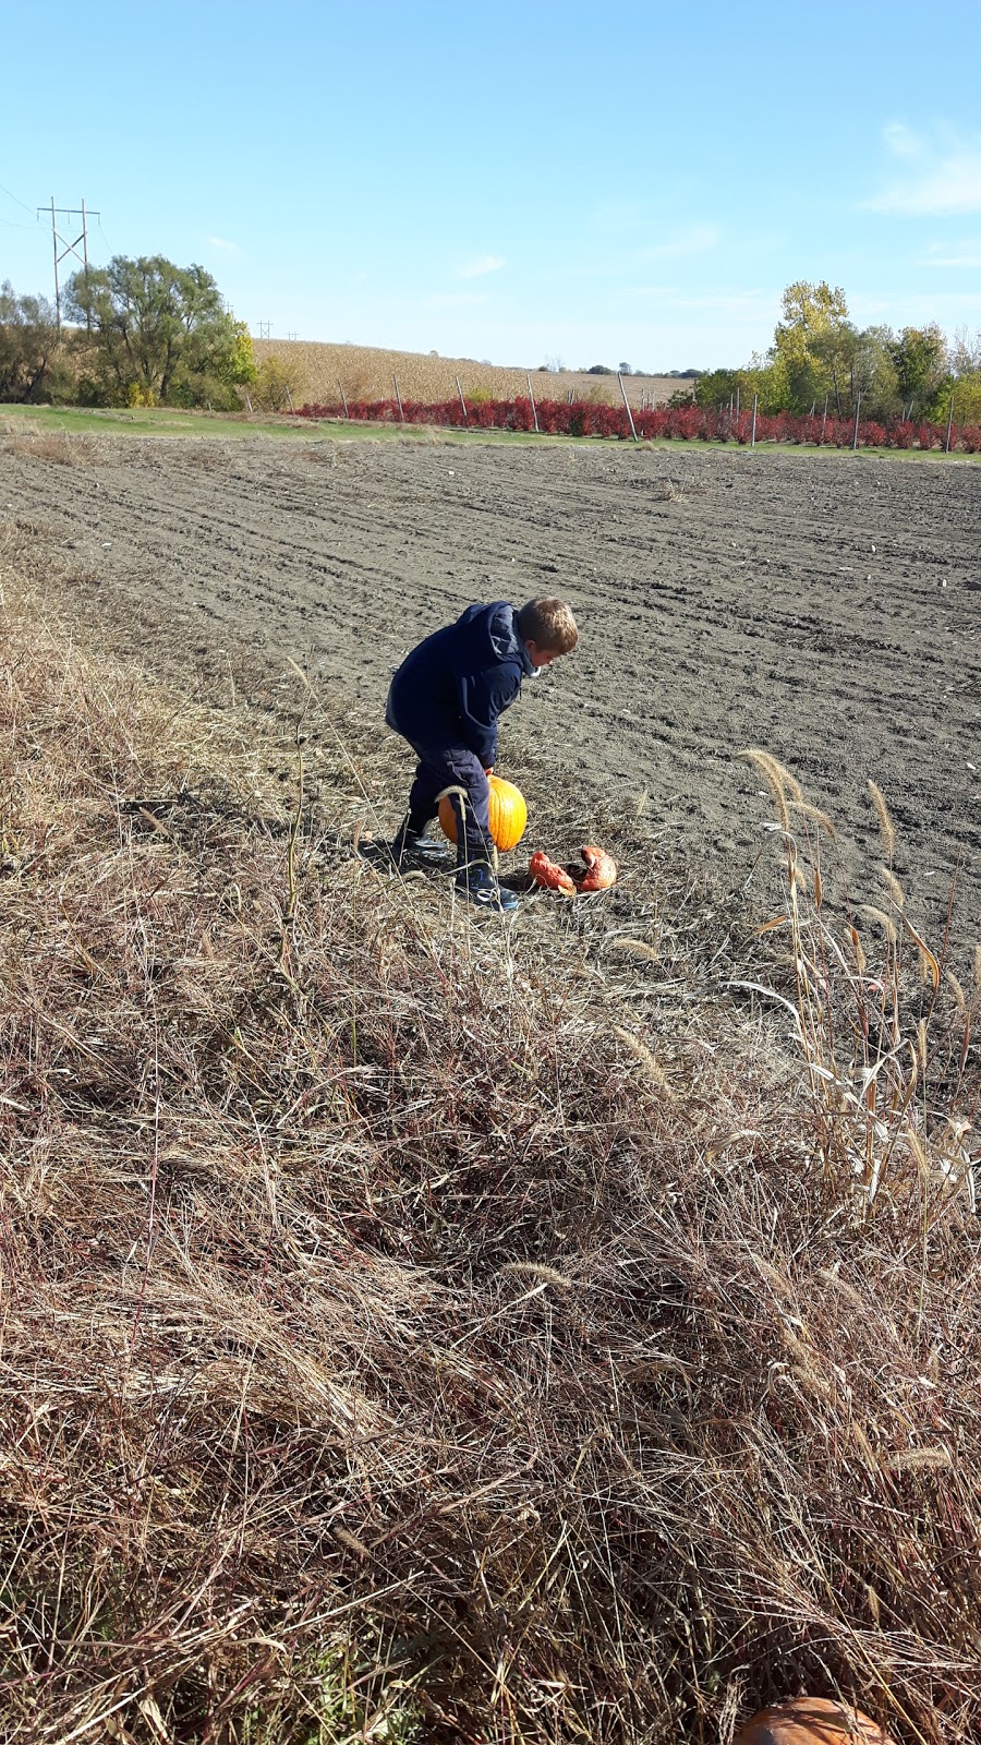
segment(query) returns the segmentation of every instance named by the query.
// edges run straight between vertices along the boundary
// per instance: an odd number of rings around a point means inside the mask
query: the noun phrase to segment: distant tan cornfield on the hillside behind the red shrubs
[[[393,377],[403,400],[449,400],[456,380],[468,400],[511,400],[527,394],[527,375],[473,358],[436,358],[431,352],[381,351],[374,346],[326,346],[318,340],[253,339],[255,361],[276,358],[288,379],[295,405],[337,400],[339,386],[347,400],[391,400]],[[620,401],[614,375],[590,375],[588,370],[531,370],[536,400]],[[625,375],[623,386],[632,407],[663,405],[677,387],[691,386],[672,375]]]

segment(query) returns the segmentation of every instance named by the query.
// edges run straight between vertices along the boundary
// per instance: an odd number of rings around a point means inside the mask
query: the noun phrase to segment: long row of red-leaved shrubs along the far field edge
[[[463,429],[504,429],[532,431],[534,414],[538,428],[548,436],[616,436],[620,441],[630,438],[630,422],[625,407],[611,407],[590,400],[538,400],[534,412],[531,400],[485,400],[470,403],[466,414],[459,400],[403,400],[401,408],[396,400],[349,400],[347,417],[381,424],[442,424]],[[300,407],[304,419],[342,419],[344,407],[339,401],[328,405]],[[714,412],[703,407],[653,407],[649,412],[634,412],[634,428],[642,438],[676,438],[677,441],[735,441],[749,443],[752,438],[752,414]],[[796,417],[791,412],[758,414],[758,441],[810,443],[817,447],[850,448],[855,436],[854,419],[834,419],[813,414]],[[897,424],[876,424],[871,419],[859,422],[861,448],[943,448],[946,426],[913,424],[902,419]],[[950,445],[967,454],[981,452],[981,426],[953,426]]]

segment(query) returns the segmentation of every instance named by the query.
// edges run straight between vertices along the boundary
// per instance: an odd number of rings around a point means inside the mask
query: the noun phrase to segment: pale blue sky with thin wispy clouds
[[[981,3],[7,5],[0,279],[215,274],[257,333],[744,363],[792,279],[981,328]]]

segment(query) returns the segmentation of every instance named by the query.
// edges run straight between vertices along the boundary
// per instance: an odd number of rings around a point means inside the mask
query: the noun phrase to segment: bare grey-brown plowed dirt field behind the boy
[[[161,440],[66,466],[14,441],[3,515],[148,667],[218,689],[218,649],[253,674],[293,656],[379,717],[391,668],[470,600],[567,595],[580,649],[525,686],[503,773],[564,770],[585,820],[648,789],[665,850],[731,890],[770,817],[740,747],[784,759],[862,860],[871,777],[911,913],[941,925],[958,871],[962,960],[981,935],[978,464]]]

